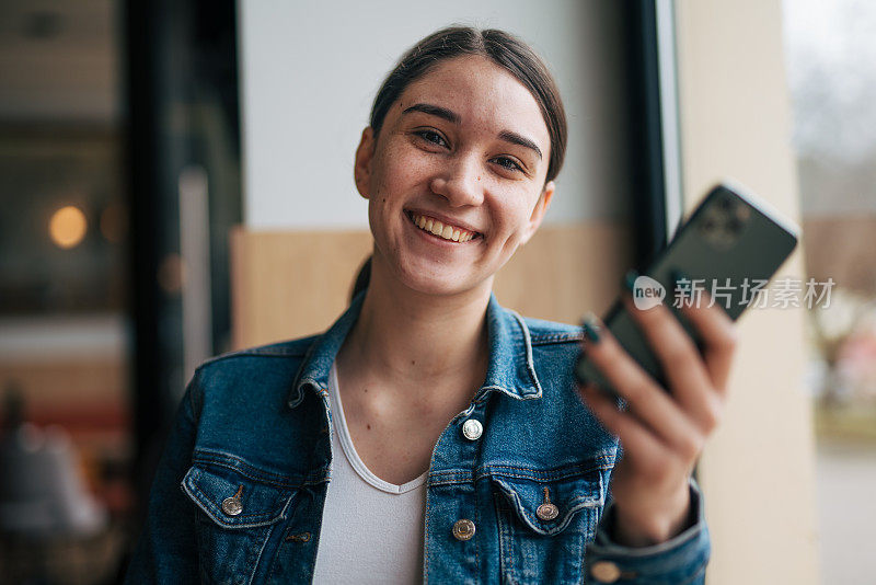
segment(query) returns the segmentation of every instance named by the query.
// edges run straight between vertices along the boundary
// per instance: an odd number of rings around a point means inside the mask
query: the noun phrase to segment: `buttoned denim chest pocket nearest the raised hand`
[[[494,474],[504,582],[580,583],[604,493],[600,470]]]

